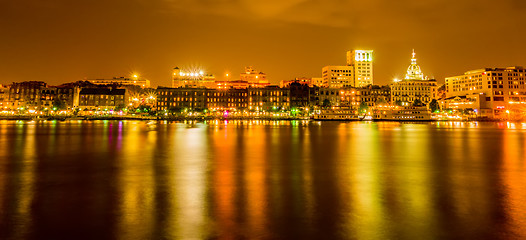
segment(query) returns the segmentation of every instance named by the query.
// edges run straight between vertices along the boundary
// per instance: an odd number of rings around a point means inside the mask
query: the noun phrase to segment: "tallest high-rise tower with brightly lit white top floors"
[[[354,87],[373,84],[373,50],[348,51],[347,65],[354,68]]]

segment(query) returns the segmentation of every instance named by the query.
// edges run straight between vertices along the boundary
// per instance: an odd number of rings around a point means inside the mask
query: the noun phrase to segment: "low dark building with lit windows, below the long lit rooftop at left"
[[[79,108],[97,111],[124,108],[126,99],[126,89],[84,88],[79,93]]]

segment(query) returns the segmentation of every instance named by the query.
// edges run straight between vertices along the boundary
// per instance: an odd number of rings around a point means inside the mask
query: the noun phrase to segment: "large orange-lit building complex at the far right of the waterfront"
[[[484,68],[446,78],[446,107],[506,117],[526,106],[526,69]]]

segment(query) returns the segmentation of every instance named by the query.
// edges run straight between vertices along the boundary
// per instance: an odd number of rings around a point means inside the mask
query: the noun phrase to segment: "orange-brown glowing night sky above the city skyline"
[[[375,51],[374,80],[526,65],[524,0],[0,0],[0,84],[148,78],[254,66],[271,83],[321,77],[350,49]]]

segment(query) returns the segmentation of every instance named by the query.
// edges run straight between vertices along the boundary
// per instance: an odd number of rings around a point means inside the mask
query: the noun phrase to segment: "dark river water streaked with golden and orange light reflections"
[[[526,124],[0,121],[0,239],[524,239]]]

